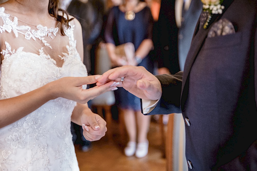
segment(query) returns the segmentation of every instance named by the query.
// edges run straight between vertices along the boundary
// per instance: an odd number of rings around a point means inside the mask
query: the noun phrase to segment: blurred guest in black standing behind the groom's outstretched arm
[[[183,71],[201,9],[200,0],[161,1],[156,46],[159,74]]]

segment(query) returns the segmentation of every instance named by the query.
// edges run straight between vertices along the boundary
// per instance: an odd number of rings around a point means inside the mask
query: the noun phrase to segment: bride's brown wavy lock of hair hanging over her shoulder
[[[68,28],[69,22],[74,18],[69,19],[68,13],[65,10],[60,9],[58,7],[59,3],[60,3],[60,0],[49,0],[48,13],[61,23],[61,34],[65,35],[64,27]],[[59,11],[62,12],[62,15],[58,14]],[[67,19],[64,17],[65,14],[67,16]]]

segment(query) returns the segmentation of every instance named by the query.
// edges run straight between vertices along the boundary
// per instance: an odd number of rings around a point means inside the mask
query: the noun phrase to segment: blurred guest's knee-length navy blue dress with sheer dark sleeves
[[[152,39],[153,17],[148,6],[135,13],[132,21],[125,19],[125,13],[118,6],[110,9],[107,17],[104,38],[106,43],[113,43],[115,46],[131,42],[135,50],[144,39]],[[153,73],[153,59],[146,56],[138,66],[145,67]],[[122,87],[114,91],[116,104],[122,109],[140,109],[140,99],[127,92]]]

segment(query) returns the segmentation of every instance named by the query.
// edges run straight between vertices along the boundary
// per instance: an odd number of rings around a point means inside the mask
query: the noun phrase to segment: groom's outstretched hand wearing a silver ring
[[[124,81],[121,81],[124,77]],[[142,66],[123,66],[110,69],[97,78],[96,85],[101,86],[109,81],[120,82],[130,93],[142,99],[158,100],[162,95],[160,81]]]

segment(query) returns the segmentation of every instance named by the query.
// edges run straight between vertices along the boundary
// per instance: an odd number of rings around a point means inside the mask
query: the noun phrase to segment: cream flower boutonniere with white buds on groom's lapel
[[[201,0],[201,1],[203,3],[203,11],[208,13],[207,20],[204,24],[204,29],[206,29],[214,14],[222,14],[222,11],[225,7],[221,4],[223,4],[224,0]]]

